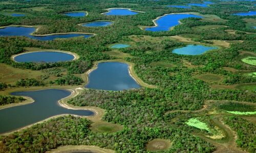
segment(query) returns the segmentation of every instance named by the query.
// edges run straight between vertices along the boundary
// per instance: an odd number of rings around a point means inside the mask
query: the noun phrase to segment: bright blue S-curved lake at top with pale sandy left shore
[[[202,16],[197,16],[193,14],[168,14],[156,20],[157,27],[145,28],[145,30],[153,31],[153,32],[169,31],[171,27],[174,27],[175,25],[179,24],[179,20],[183,18],[188,18],[188,17],[202,18]]]

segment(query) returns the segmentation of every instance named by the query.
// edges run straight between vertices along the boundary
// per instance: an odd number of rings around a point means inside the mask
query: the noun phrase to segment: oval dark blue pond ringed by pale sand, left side
[[[62,62],[71,61],[74,56],[61,52],[31,52],[27,54],[18,55],[14,58],[17,62]]]

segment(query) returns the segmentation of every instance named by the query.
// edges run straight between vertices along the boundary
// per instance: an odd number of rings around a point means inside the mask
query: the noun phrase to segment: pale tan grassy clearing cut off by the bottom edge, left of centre
[[[71,153],[71,152],[94,152],[94,153],[114,153],[114,150],[100,148],[95,145],[66,145],[60,146],[57,149],[47,151],[47,153]]]

